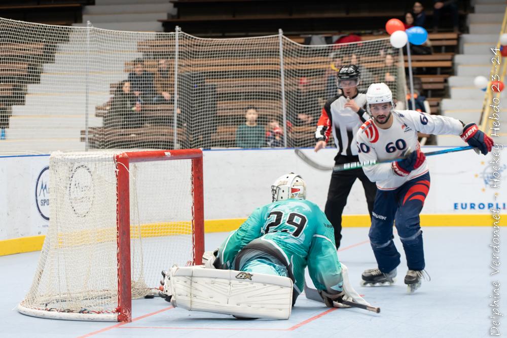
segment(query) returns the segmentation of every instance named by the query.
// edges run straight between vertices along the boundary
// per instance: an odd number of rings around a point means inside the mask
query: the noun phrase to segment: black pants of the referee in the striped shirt
[[[335,158],[336,165],[357,161],[359,161],[359,157],[357,156],[338,155]],[[340,247],[340,241],[342,239],[343,208],[347,204],[347,197],[356,178],[363,183],[370,219],[372,217],[375,194],[377,193],[376,184],[366,177],[365,172],[361,168],[333,172],[331,175],[331,182],[329,184],[328,201],[325,203],[324,213],[331,224],[333,224],[337,249]]]

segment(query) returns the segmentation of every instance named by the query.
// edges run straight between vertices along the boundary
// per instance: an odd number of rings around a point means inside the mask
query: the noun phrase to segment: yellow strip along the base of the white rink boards
[[[507,220],[501,218],[498,225],[507,227]],[[208,219],[204,221],[205,233],[228,232],[238,229],[246,218],[231,219]],[[493,227],[495,219],[488,214],[422,214],[422,227]],[[343,215],[342,226],[344,228],[364,228],[370,226],[370,217],[368,215]],[[141,237],[160,237],[171,235],[190,235],[188,222],[164,222],[143,224],[141,226]],[[172,228],[172,229],[170,229]],[[176,229],[174,229],[176,228]],[[135,235],[136,231],[132,229],[131,235]],[[138,234],[138,233],[137,233]],[[83,235],[81,232],[80,235]],[[96,234],[97,235],[97,234]],[[58,234],[61,240],[64,234]],[[74,238],[75,235],[70,235]],[[78,236],[81,237],[81,236]],[[78,238],[77,237],[77,238]],[[93,237],[93,236],[92,236]],[[29,251],[39,251],[42,249],[45,236],[20,237],[7,240],[0,240],[0,256],[10,255],[14,253],[22,253]],[[99,236],[96,238],[100,242]],[[109,238],[109,236],[107,236]],[[67,238],[68,239],[68,238]],[[68,244],[68,242],[66,242]],[[61,245],[61,243],[60,243]],[[67,245],[61,245],[65,247]],[[72,245],[71,245],[72,246]]]

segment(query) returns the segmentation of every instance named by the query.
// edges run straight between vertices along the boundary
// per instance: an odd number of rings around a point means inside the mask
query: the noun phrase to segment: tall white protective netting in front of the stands
[[[405,101],[388,39],[304,46],[0,19],[0,51],[1,153],[311,146],[348,63],[360,90],[382,81]]]

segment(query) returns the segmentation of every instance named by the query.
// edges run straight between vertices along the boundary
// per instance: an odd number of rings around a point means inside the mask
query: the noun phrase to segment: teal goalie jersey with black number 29
[[[222,243],[215,266],[241,270],[235,266],[237,254],[252,244],[279,258],[289,277],[294,278],[298,293],[303,290],[307,266],[317,289],[341,291],[342,274],[333,226],[316,204],[288,199],[256,209]]]

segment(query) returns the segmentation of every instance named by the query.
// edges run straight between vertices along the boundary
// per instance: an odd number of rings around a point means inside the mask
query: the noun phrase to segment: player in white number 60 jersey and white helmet
[[[366,96],[372,118],[357,132],[359,160],[405,159],[363,168],[378,188],[369,233],[378,269],[366,270],[363,284],[394,283],[396,267],[400,264],[400,253],[392,241],[394,222],[407,257],[409,270],[405,284],[409,292],[413,292],[420,286],[425,267],[419,213],[430,185],[417,132],[460,135],[463,141],[479,148],[484,155],[491,151],[493,140],[475,123],[464,125],[453,118],[415,110],[393,110],[392,94],[384,83],[372,84]]]

